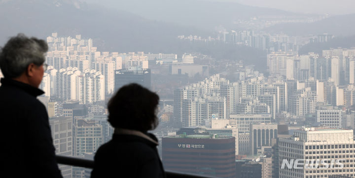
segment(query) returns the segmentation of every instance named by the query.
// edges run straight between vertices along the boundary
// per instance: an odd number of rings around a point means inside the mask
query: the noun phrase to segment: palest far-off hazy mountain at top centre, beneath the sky
[[[279,9],[253,7],[235,2],[208,0],[86,0],[106,4],[147,19],[213,30],[216,26],[234,28],[233,21],[257,16],[303,16]]]

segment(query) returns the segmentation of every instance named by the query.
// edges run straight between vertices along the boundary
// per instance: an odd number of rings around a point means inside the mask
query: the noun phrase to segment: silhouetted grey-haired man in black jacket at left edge
[[[46,70],[45,41],[18,34],[0,52],[0,177],[61,178],[48,115],[36,97]]]

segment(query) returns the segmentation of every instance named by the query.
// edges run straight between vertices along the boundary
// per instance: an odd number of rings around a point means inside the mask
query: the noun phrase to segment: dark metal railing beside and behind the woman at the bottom
[[[66,165],[89,168],[89,169],[94,168],[94,161],[92,160],[68,157],[68,156],[59,156],[59,155],[56,155],[56,158],[59,164],[66,164]],[[174,171],[165,171],[165,175],[167,178],[213,178],[209,176],[202,177],[201,175],[179,173]]]

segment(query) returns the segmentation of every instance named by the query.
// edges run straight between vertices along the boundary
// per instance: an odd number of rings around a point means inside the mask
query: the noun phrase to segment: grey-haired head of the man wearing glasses
[[[0,52],[0,68],[5,78],[38,87],[43,78],[47,43],[20,33],[10,38]]]

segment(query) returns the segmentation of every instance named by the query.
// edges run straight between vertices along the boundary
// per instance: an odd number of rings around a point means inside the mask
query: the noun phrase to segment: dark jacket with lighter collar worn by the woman
[[[98,149],[91,178],[165,178],[156,137],[126,131],[115,130],[112,140]]]

